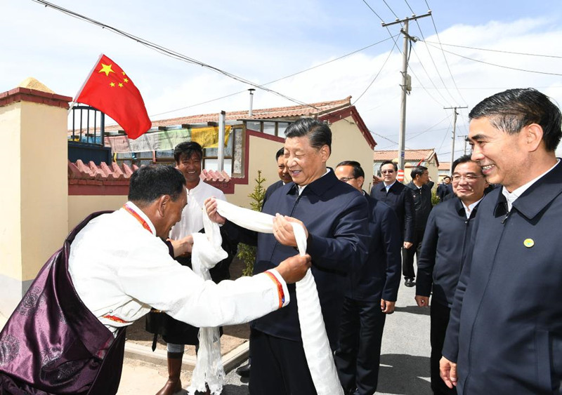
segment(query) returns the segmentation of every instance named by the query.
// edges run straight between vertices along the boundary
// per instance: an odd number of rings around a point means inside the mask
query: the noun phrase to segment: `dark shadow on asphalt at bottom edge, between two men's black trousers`
[[[377,393],[431,395],[429,357],[406,354],[381,355]]]

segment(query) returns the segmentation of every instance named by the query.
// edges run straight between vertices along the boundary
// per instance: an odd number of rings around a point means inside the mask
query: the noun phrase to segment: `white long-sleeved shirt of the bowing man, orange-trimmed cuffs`
[[[150,307],[202,327],[251,321],[289,302],[275,269],[218,284],[200,279],[172,259],[148,217],[126,204],[150,230],[124,208],[100,215],[77,234],[68,262],[82,302],[114,335]]]

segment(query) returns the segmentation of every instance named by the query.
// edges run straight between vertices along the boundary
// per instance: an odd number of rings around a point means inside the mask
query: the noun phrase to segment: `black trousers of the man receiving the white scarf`
[[[315,395],[302,342],[250,331],[251,395]]]

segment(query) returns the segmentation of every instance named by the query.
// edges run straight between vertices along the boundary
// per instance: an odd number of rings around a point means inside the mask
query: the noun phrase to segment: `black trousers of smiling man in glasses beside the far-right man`
[[[449,314],[451,309],[444,304],[434,303],[431,300],[431,389],[433,394],[456,395],[457,389],[450,389],[441,380],[439,375],[439,361],[441,352],[443,351],[443,342],[445,342],[445,332],[449,323]]]

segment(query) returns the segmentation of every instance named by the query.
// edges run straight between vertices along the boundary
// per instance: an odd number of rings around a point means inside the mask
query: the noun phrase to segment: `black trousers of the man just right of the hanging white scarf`
[[[339,349],[334,359],[346,393],[355,388],[361,395],[377,391],[385,319],[380,300],[366,302],[344,298]]]

